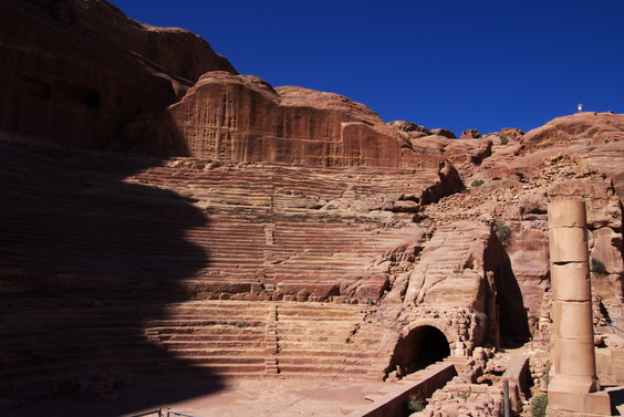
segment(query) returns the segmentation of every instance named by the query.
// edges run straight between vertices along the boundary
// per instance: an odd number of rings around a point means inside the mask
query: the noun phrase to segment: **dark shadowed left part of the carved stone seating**
[[[146,333],[209,263],[185,238],[209,227],[198,208],[124,180],[157,161],[3,131],[0,149],[2,404],[77,390],[110,402],[122,375],[166,368],[215,376]]]

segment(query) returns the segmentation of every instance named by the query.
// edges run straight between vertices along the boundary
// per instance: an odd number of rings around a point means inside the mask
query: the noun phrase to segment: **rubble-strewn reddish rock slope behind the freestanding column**
[[[548,204],[557,199],[585,200],[596,303],[609,310],[607,315],[613,320],[621,317],[617,306],[623,296],[620,272],[622,197],[618,190],[623,185],[624,153],[618,152],[622,142],[617,127],[621,119],[621,115],[609,113],[584,114],[555,119],[549,124],[550,131],[538,128],[526,135],[520,131],[486,135],[480,140],[491,140],[491,155],[469,169],[458,165],[465,183],[470,185],[470,194],[449,196],[425,209],[424,216],[438,225],[482,219],[495,226],[511,260],[533,337],[548,337],[548,326],[544,333],[538,330],[538,323],[550,321],[545,213]],[[575,126],[575,121],[580,126]],[[592,127],[594,122],[597,126]],[[552,127],[561,123],[564,126],[561,131]],[[569,135],[570,142],[565,146],[552,142],[561,132]],[[526,146],[535,137],[542,140],[542,147]],[[596,137],[602,145],[596,145]]]

